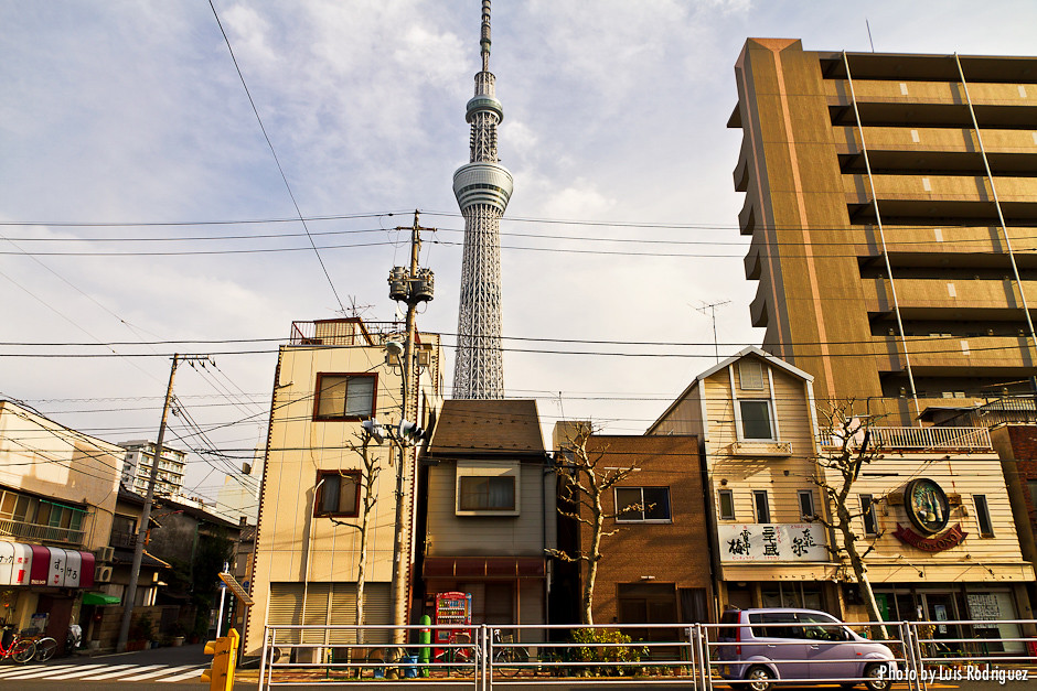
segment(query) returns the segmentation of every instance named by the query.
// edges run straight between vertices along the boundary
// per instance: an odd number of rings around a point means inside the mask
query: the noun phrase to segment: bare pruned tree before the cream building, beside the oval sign
[[[865,559],[875,549],[875,540],[883,533],[879,532],[872,538],[858,536],[857,519],[874,509],[868,506],[854,512],[849,505],[851,493],[857,478],[860,477],[860,471],[879,457],[879,450],[874,444],[869,444],[873,420],[869,417],[856,417],[853,411],[853,401],[837,403],[831,410],[821,411],[821,415],[825,422],[822,433],[831,433],[833,443],[827,451],[819,454],[817,466],[821,472],[812,477],[811,482],[821,489],[828,506],[832,507],[833,515],[827,520],[820,516],[814,518],[825,528],[835,531],[841,544],[830,546],[828,551],[836,560],[842,561],[845,558],[849,562],[860,598],[867,605],[868,618],[873,622],[881,622],[883,616],[875,601],[872,582],[868,580]],[[866,540],[870,543],[863,547]],[[885,626],[873,628],[877,629],[875,631],[877,636],[888,638]]]

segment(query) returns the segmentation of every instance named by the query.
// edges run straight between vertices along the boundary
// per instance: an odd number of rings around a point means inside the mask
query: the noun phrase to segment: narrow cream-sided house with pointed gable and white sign
[[[694,434],[705,455],[718,603],[836,603],[822,510],[812,377],[749,347],[695,377],[648,434]]]

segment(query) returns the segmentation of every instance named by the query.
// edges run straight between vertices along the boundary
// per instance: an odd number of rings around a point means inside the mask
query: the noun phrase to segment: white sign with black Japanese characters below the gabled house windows
[[[820,523],[744,523],[717,527],[721,562],[828,561]]]

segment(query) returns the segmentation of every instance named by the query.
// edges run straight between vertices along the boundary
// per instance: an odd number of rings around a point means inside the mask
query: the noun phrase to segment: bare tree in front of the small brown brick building
[[[564,447],[559,458],[555,462],[555,473],[559,476],[559,506],[558,514],[569,518],[579,526],[590,528],[590,542],[587,549],[576,550],[573,553],[558,549],[545,550],[552,557],[562,561],[587,564],[586,577],[582,583],[580,596],[580,618],[584,624],[594,624],[592,605],[595,597],[595,580],[598,575],[598,562],[601,561],[601,541],[603,538],[616,535],[619,529],[606,530],[605,521],[613,519],[627,511],[643,510],[641,504],[631,504],[613,511],[605,509],[602,497],[618,483],[635,473],[635,467],[603,467],[601,461],[609,457],[605,451],[590,453],[587,443],[594,434],[590,422],[570,422],[565,425],[567,430]],[[610,458],[610,462],[614,462]]]

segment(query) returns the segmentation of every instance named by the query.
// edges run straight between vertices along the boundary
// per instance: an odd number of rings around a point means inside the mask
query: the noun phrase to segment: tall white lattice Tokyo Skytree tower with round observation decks
[[[482,0],[479,40],[482,72],[466,119],[472,126],[471,156],[453,174],[453,194],[464,216],[464,259],[453,398],[504,398],[501,353],[501,217],[514,182],[498,162],[496,126],[504,118],[490,73],[490,0]]]

